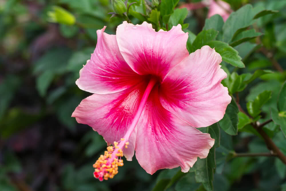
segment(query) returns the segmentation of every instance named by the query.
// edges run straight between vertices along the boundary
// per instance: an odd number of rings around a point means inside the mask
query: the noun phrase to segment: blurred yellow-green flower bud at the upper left
[[[66,25],[74,25],[76,23],[76,18],[72,13],[58,6],[53,6],[53,11],[49,11],[47,15],[49,16],[48,21],[53,23]]]

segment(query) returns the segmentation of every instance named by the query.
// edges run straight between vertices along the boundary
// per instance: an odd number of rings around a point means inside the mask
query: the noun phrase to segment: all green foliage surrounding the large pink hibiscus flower
[[[285,191],[286,166],[261,131],[286,154],[286,1],[227,2],[235,12],[224,22],[220,15],[206,19],[207,7],[174,9],[189,3],[178,0],[129,0],[127,7],[0,0],[0,190]],[[70,117],[89,95],[75,80],[96,46],[96,30],[106,25],[115,34],[124,20],[148,21],[156,30],[180,23],[189,52],[209,45],[223,58],[222,83],[233,100],[221,121],[200,128],[215,146],[188,173],[151,176],[134,157],[112,180],[92,176],[106,143]]]

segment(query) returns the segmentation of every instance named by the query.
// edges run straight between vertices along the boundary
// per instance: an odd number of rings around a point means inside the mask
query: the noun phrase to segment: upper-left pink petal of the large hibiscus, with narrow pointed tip
[[[105,28],[97,30],[94,53],[76,81],[80,89],[97,94],[118,92],[142,81],[120,54],[116,36],[106,34]]]

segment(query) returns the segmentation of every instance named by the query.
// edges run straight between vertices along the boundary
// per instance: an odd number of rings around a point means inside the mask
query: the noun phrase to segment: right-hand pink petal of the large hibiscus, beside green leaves
[[[206,127],[225,114],[231,102],[221,84],[227,74],[221,69],[221,56],[209,46],[191,53],[171,70],[161,86],[162,106],[193,127]]]

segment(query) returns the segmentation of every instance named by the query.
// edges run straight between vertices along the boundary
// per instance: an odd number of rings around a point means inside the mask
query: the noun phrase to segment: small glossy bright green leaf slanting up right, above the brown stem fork
[[[261,112],[261,107],[271,98],[271,91],[264,91],[253,101],[247,103],[247,111],[252,117],[256,117]]]

